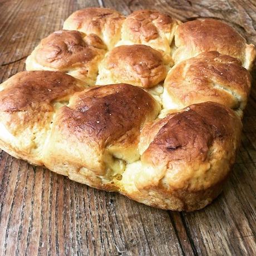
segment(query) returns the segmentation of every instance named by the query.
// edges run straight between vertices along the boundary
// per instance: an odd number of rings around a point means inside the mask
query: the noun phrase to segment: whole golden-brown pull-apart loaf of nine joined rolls
[[[0,147],[146,205],[201,209],[235,162],[254,59],[215,19],[82,9],[0,85]]]

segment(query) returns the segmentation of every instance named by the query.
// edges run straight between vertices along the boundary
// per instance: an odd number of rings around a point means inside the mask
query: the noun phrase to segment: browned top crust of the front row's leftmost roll
[[[42,107],[77,91],[75,78],[62,72],[23,71],[9,78],[0,91],[0,111],[26,111]]]

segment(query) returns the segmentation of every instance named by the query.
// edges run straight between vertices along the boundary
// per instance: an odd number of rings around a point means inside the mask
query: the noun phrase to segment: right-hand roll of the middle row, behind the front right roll
[[[239,60],[214,51],[204,52],[170,70],[165,79],[163,104],[165,109],[181,109],[214,101],[242,114],[250,83],[250,73]]]

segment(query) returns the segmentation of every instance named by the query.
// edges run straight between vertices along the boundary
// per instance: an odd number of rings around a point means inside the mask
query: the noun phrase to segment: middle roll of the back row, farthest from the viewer
[[[131,13],[122,25],[122,40],[119,44],[144,44],[170,55],[171,42],[180,21],[154,10],[140,10]]]

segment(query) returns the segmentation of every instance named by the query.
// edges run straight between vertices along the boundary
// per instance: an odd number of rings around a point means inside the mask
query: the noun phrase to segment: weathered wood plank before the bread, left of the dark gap
[[[182,254],[167,211],[1,154],[1,255]]]

